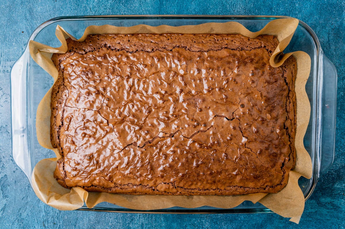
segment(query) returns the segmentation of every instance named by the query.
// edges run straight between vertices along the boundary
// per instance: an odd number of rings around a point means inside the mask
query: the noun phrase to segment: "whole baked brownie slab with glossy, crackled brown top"
[[[294,167],[296,61],[262,35],[90,35],[53,54],[60,185],[128,194],[277,192]]]

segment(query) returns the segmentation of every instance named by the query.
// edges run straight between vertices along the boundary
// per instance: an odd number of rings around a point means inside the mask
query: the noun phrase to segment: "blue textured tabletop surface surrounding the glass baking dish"
[[[0,228],[344,228],[345,2],[342,0],[0,0]],[[34,7],[36,6],[36,7]],[[306,22],[338,71],[335,162],[307,200],[299,225],[276,214],[125,214],[59,211],[34,194],[11,157],[10,69],[31,33],[54,17],[106,14],[287,15]]]

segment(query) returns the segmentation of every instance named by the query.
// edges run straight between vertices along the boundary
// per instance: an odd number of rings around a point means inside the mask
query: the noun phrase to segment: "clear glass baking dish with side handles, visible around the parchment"
[[[53,18],[41,24],[31,35],[34,40],[50,46],[60,46],[55,36],[57,25],[80,38],[89,25],[110,24],[133,26],[147,24],[158,26],[167,24],[195,25],[207,22],[236,21],[251,31],[262,29],[268,22],[288,18],[285,16],[199,16],[199,15],[135,15],[135,16],[77,16]],[[296,32],[285,52],[301,50],[311,56],[312,66],[306,91],[311,103],[310,121],[304,137],[304,145],[313,162],[311,179],[301,177],[301,187],[305,199],[312,194],[319,177],[331,166],[334,159],[337,73],[334,65],[324,55],[320,43],[307,24],[300,21]],[[16,164],[26,174],[31,184],[34,166],[43,158],[55,154],[39,145],[36,137],[36,110],[42,97],[53,84],[52,77],[34,62],[26,46],[22,56],[13,64],[11,70],[11,117],[12,117],[12,154]],[[116,212],[170,212],[170,213],[253,213],[270,212],[257,203],[245,201],[231,209],[203,206],[199,208],[172,207],[141,211],[102,202],[89,209],[85,205],[79,210],[98,210]]]

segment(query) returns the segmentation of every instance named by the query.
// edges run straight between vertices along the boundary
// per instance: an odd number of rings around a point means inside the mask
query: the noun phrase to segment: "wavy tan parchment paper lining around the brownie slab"
[[[196,208],[200,206],[212,206],[217,208],[233,208],[245,200],[253,203],[260,202],[277,214],[291,218],[290,221],[299,222],[304,210],[304,195],[298,186],[298,178],[304,176],[311,178],[312,162],[309,154],[304,148],[303,137],[307,129],[310,114],[310,104],[305,92],[305,83],[309,76],[311,59],[308,54],[297,51],[282,54],[290,42],[295,29],[297,19],[277,19],[269,22],[262,30],[250,32],[243,25],[237,22],[226,23],[205,23],[200,25],[185,25],[171,27],[160,25],[151,27],[148,25],[136,25],[133,27],[115,27],[112,25],[89,26],[83,36],[78,41],[83,41],[89,34],[137,34],[137,33],[212,33],[212,34],[242,34],[249,38],[255,38],[260,34],[275,35],[279,41],[276,50],[270,58],[273,67],[280,66],[290,55],[294,55],[297,60],[297,78],[295,83],[297,100],[297,130],[296,130],[296,166],[289,173],[286,187],[276,194],[256,193],[236,196],[169,196],[169,195],[128,195],[128,194],[108,194],[104,192],[87,192],[80,187],[66,189],[61,187],[53,178],[56,161],[61,158],[57,149],[50,143],[50,96],[51,89],[43,97],[37,109],[36,130],[37,138],[41,146],[54,150],[56,158],[43,159],[33,169],[32,185],[33,189],[43,202],[60,210],[74,210],[83,206],[84,201],[89,208],[100,202],[107,201],[118,206],[137,209],[152,210],[169,208],[174,206],[185,208]],[[67,51],[66,39],[72,37],[59,25],[55,32],[61,42],[59,48],[30,41],[29,48],[32,59],[36,61],[44,70],[57,80],[58,70],[51,61],[52,53],[65,53]]]

